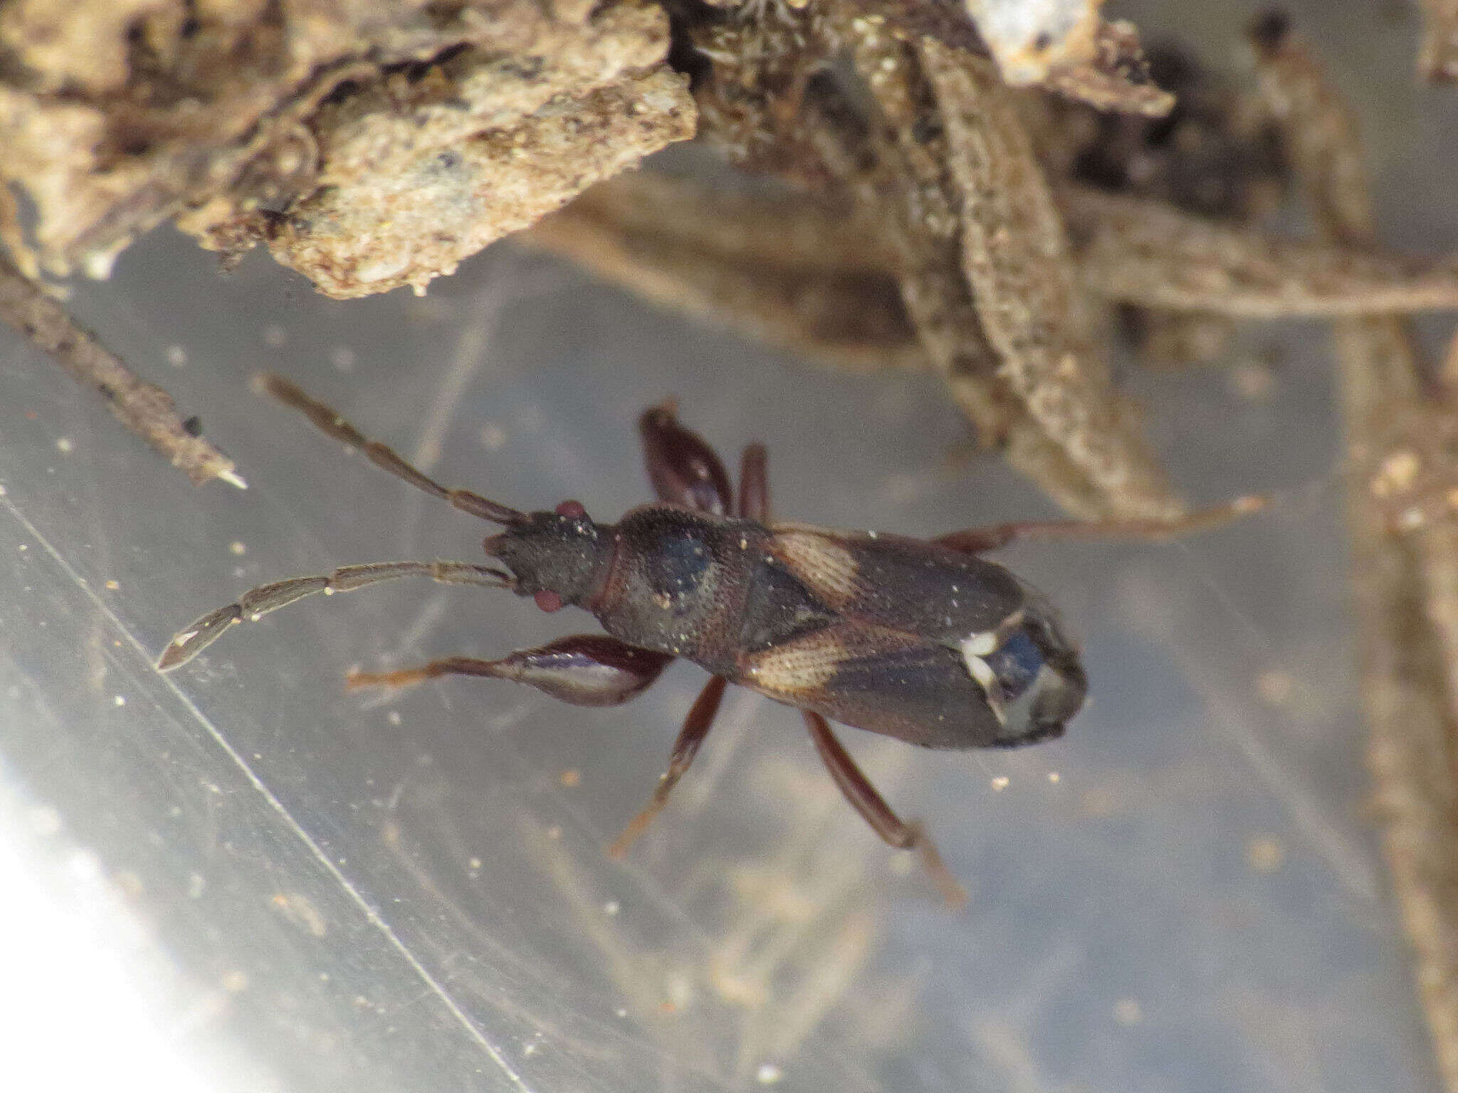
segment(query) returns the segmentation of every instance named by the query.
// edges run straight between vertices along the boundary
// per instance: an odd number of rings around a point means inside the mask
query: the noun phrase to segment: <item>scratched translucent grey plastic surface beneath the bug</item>
[[[1203,17],[1185,36],[1235,31]],[[1375,19],[1308,29],[1343,73],[1387,80],[1368,115],[1387,238],[1430,249],[1455,235],[1429,213],[1458,115],[1424,92],[1420,133],[1384,125],[1416,109],[1413,34]],[[933,533],[1050,514],[996,459],[948,469],[965,433],[935,379],[815,372],[509,251],[426,299],[334,303],[265,259],[220,277],[163,232],[74,306],[251,488],[190,487],[0,332],[0,842],[61,904],[92,896],[57,863],[99,866],[114,934],[71,946],[159,966],[144,1004],[220,1087],[1433,1087],[1363,812],[1319,326],[1248,334],[1247,359],[1279,356],[1268,386],[1130,376],[1193,495],[1274,490],[1274,512],[1174,546],[1003,552],[1086,646],[1094,701],[1067,739],[935,753],[846,732],[967,883],[952,914],[841,802],[793,711],[746,692],[609,861],[693,666],[611,710],[502,682],[343,686],[351,666],[589,630],[577,612],[402,581],[150,667],[252,584],[480,557],[486,525],[251,395],[255,370],[519,507],[646,500],[633,421],[674,395],[728,459],[768,443],[784,517]]]

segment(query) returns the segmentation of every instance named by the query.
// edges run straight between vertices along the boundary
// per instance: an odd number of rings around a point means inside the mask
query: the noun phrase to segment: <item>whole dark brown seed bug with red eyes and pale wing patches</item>
[[[446,675],[535,686],[573,705],[617,705],[642,694],[675,657],[712,673],[688,713],[647,807],[609,853],[621,857],[688,769],[728,683],[800,710],[831,778],[892,847],[920,851],[949,902],[962,889],[920,823],[901,820],[831,733],[830,720],[923,748],[1007,748],[1063,733],[1088,681],[1053,608],[1002,565],[978,557],[1025,533],[1082,533],[1089,525],[1002,525],[937,539],[835,532],[770,522],[765,449],[749,444],[739,494],[713,449],[672,405],[639,420],[658,501],[615,525],[577,501],[523,513],[469,490],[448,490],[367,440],[327,405],[277,376],[264,392],[328,436],[456,509],[502,525],[486,554],[500,563],[395,561],[262,584],[179,632],[157,660],[169,672],[225,630],[315,592],[408,576],[532,596],[542,611],[579,606],[607,634],[577,634],[500,660],[446,657],[397,672],[356,672],[351,686],[407,686]],[[1191,517],[1207,526],[1252,498]],[[1213,519],[1212,519],[1213,514]],[[1102,530],[1166,533],[1169,526]],[[1188,528],[1184,528],[1188,529]]]

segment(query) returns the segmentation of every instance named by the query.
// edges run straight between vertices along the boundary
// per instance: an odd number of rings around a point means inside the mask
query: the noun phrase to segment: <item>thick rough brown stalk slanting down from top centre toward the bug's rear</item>
[[[1094,350],[1057,210],[990,61],[844,4],[693,34],[709,58],[695,83],[706,138],[746,166],[849,194],[884,224],[923,350],[987,443],[1073,512],[1181,510]],[[837,58],[840,70],[827,67]],[[986,103],[951,98],[971,93],[968,67],[978,90],[991,87]],[[1012,159],[975,160],[971,147],[989,136]],[[1015,176],[1025,192],[983,203]],[[986,243],[1009,229],[996,258],[978,261],[968,235]],[[1047,316],[1016,293],[1048,305]]]

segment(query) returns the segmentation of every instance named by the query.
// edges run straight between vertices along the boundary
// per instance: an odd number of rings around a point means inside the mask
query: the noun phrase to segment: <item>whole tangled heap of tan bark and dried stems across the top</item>
[[[176,217],[332,296],[421,289],[697,120],[777,188],[706,211],[618,178],[534,239],[837,366],[930,367],[1060,504],[1130,519],[1182,503],[1112,385],[1105,300],[1204,351],[1222,316],[1455,302],[1445,264],[1263,235],[1268,114],[1089,0],[181,4],[0,10],[22,264],[98,270]]]

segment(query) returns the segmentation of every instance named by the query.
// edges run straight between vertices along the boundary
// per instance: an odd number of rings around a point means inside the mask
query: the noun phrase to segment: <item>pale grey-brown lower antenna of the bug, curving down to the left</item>
[[[354,592],[366,584],[397,577],[430,577],[440,584],[483,584],[490,589],[510,589],[516,584],[506,570],[468,561],[378,561],[364,565],[341,565],[332,573],[318,577],[292,577],[273,584],[260,584],[239,596],[236,603],[210,611],[181,630],[157,657],[157,670],[171,672],[181,667],[217,641],[223,631],[243,619],[257,622],[270,611],[277,611],[316,592],[322,592],[325,596],[335,592]]]

